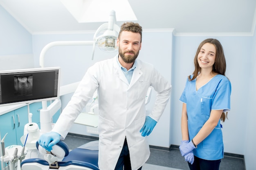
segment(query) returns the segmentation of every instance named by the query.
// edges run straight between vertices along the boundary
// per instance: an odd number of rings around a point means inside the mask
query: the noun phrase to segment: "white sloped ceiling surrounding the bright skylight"
[[[138,22],[144,30],[174,28],[177,35],[252,35],[256,25],[256,0],[128,0],[128,2],[137,17],[135,22]],[[61,0],[0,0],[0,5],[31,34],[95,31],[104,23],[78,23]],[[117,25],[120,26],[122,23],[117,22]]]

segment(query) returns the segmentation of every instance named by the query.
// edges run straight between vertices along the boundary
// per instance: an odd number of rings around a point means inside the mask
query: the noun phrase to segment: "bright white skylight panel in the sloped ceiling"
[[[128,0],[61,0],[79,23],[108,22],[111,10],[117,21],[137,21]]]

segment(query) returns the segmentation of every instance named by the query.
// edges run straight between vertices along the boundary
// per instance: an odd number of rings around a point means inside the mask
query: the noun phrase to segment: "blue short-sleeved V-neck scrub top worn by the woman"
[[[231,83],[226,76],[218,74],[196,90],[196,78],[187,78],[180,101],[186,103],[188,115],[189,139],[193,139],[204,123],[209,119],[211,110],[230,110]],[[222,131],[218,125],[198,147],[193,150],[196,157],[206,160],[218,160],[224,157]]]

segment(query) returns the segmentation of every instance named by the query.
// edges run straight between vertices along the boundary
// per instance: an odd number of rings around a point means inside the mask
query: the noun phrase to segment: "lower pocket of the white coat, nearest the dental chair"
[[[104,143],[110,145],[112,142],[112,136],[114,132],[115,122],[107,120],[101,116],[99,116],[99,140]]]

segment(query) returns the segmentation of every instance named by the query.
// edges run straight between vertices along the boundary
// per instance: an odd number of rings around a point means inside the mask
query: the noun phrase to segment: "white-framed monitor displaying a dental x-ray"
[[[0,106],[59,97],[60,68],[0,71]]]

